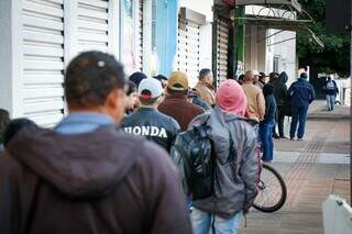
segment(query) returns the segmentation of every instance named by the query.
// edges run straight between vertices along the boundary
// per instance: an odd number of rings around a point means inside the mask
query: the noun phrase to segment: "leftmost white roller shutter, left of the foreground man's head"
[[[23,0],[23,114],[43,126],[64,115],[64,0]]]

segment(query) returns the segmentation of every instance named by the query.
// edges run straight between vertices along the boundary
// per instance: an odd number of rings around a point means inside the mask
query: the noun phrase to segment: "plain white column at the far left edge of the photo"
[[[22,1],[0,1],[0,108],[22,116]]]

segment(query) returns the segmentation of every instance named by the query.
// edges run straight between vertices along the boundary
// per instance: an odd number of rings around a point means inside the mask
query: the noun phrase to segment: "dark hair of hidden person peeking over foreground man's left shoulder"
[[[21,118],[12,120],[7,130],[3,133],[3,146],[7,147],[11,140],[20,132],[23,127],[28,127],[30,131],[35,131],[38,126],[31,120]]]

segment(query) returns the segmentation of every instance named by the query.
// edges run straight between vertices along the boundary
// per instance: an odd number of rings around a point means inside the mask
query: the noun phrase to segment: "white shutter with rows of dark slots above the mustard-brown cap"
[[[200,25],[183,19],[178,20],[176,69],[185,71],[189,86],[195,87],[200,69]]]

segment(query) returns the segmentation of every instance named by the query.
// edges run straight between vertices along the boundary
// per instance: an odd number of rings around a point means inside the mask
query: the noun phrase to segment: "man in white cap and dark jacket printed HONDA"
[[[139,87],[141,107],[123,119],[121,127],[129,134],[143,135],[169,152],[179,125],[173,118],[156,110],[163,92],[162,83],[157,79],[143,79]]]

